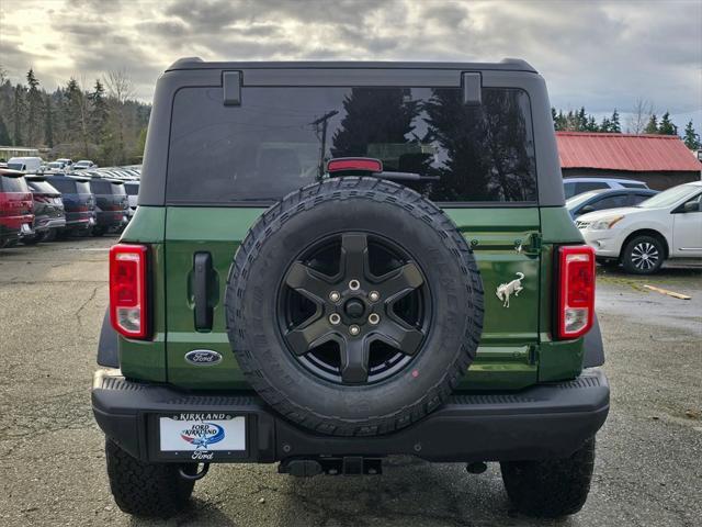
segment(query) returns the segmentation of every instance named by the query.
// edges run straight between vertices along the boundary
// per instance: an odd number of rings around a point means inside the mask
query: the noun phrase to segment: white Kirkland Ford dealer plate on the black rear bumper
[[[161,452],[246,450],[246,418],[222,413],[181,413],[159,417]],[[205,456],[207,457],[207,456]],[[193,458],[194,459],[194,458]]]

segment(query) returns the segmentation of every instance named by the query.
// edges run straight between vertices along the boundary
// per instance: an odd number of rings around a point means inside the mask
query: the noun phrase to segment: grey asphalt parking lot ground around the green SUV
[[[90,411],[114,238],[0,250],[0,517],[4,525],[156,525],[122,514]],[[678,300],[643,288],[691,295]],[[699,525],[702,269],[601,272],[598,313],[612,410],[592,492],[562,523],[511,515],[499,468],[393,459],[383,476],[296,480],[275,466],[215,466],[168,525]],[[698,520],[694,520],[694,518]]]

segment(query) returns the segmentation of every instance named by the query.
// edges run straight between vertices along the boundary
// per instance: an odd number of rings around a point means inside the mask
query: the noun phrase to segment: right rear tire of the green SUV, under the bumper
[[[514,507],[543,518],[557,518],[582,508],[593,467],[595,438],[569,458],[500,463],[505,489]]]

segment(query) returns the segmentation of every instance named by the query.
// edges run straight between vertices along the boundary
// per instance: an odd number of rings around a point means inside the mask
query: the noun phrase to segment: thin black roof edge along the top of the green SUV
[[[304,61],[205,61],[200,57],[179,58],[166,71],[179,69],[460,69],[531,71],[536,69],[519,58],[503,58],[499,63],[434,63],[434,61],[363,61],[363,60],[304,60]]]

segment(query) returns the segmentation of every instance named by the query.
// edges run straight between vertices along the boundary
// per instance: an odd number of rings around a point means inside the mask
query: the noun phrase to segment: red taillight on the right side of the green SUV
[[[577,338],[595,316],[595,250],[588,245],[558,249],[558,337]]]

